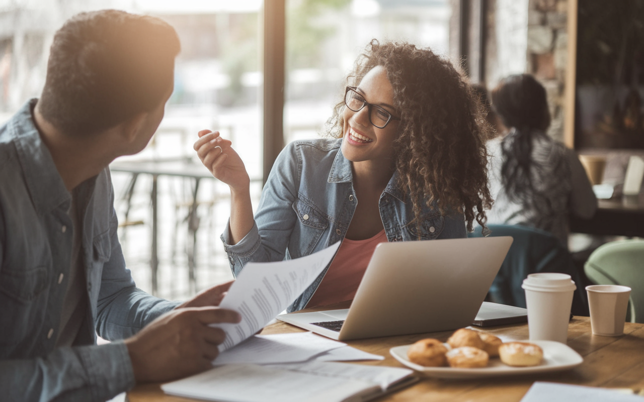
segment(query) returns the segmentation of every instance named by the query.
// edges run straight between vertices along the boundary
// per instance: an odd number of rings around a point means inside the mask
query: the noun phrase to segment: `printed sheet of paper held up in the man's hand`
[[[249,262],[220,307],[238,311],[239,324],[216,324],[226,333],[220,352],[251,337],[305,291],[336,255],[340,242],[306,257],[276,262]]]

